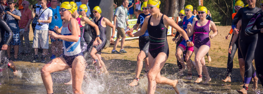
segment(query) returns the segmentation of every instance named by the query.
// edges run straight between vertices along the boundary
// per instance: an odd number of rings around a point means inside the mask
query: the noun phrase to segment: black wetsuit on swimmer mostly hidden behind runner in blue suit
[[[183,29],[183,22],[182,21],[179,21],[178,22],[178,26],[180,26],[182,29]],[[175,38],[177,38],[178,36],[179,36],[179,32],[176,32],[176,34],[175,34]],[[183,41],[183,39],[184,39],[184,37],[183,36],[181,36],[180,37],[180,39],[176,42],[176,49],[177,49],[177,47],[179,46],[179,44]],[[185,55],[186,55],[186,53],[187,53],[187,50],[184,50],[183,51],[183,60],[184,60],[184,62],[186,62],[185,61]],[[190,59],[190,61],[191,61],[191,63],[192,63],[192,60]],[[177,60],[177,66],[178,66],[178,68],[179,69],[182,69],[183,68],[183,66],[181,65],[181,63]]]

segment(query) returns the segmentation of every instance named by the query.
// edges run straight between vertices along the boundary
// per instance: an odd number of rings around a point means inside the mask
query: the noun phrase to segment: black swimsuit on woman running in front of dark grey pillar
[[[101,50],[105,46],[105,43],[106,43],[106,36],[105,36],[105,34],[106,34],[106,27],[101,26],[101,19],[102,18],[103,17],[100,17],[97,21],[96,21],[96,18],[94,18],[95,24],[98,26],[98,28],[100,30],[100,36],[101,36],[100,39],[102,41],[101,44],[99,44],[98,46],[95,46],[95,48],[97,50],[96,54],[101,54]],[[93,36],[97,37],[97,35],[93,35]],[[94,38],[96,38],[96,37],[94,37]]]

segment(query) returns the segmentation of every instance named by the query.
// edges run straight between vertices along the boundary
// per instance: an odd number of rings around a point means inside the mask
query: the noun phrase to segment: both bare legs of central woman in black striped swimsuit
[[[148,94],[154,94],[155,89],[156,89],[156,83],[158,84],[165,84],[165,85],[171,85],[176,93],[179,93],[179,90],[177,89],[177,83],[178,80],[171,80],[167,79],[165,77],[162,77],[160,75],[160,71],[162,67],[164,66],[166,60],[167,60],[167,55],[164,52],[160,52],[156,58],[153,58],[151,54],[149,53],[149,65],[150,65],[150,70],[147,75],[148,77]]]

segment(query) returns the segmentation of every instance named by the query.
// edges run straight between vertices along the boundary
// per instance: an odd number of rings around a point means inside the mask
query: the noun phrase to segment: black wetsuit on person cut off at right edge
[[[251,30],[254,26],[256,26],[256,30]],[[247,28],[245,29],[245,35],[258,35],[258,40],[256,44],[256,50],[255,50],[255,66],[256,71],[259,76],[259,80],[261,82],[261,85],[263,86],[263,33],[261,33],[261,28],[263,28],[263,11],[260,10],[258,13],[256,13],[251,20],[248,23]]]

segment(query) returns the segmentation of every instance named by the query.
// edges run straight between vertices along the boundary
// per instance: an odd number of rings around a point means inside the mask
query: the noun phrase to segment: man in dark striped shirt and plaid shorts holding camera
[[[10,27],[10,29],[13,31],[13,39],[9,43],[9,46],[7,47],[7,56],[10,59],[10,45],[14,45],[15,50],[15,59],[14,61],[21,61],[22,59],[18,58],[18,45],[20,44],[19,39],[19,27],[18,27],[18,20],[21,20],[21,12],[19,10],[15,9],[15,2],[13,0],[8,1],[8,10],[5,10],[6,14],[3,15],[4,21],[7,23],[7,25]],[[5,40],[7,39],[9,33],[5,33]]]

